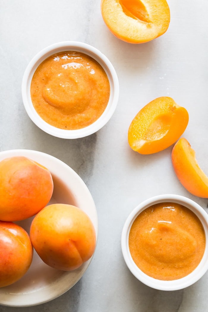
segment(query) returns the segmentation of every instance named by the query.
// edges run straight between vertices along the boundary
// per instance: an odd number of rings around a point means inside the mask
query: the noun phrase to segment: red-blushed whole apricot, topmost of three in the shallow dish
[[[0,220],[29,218],[51,199],[51,173],[33,160],[23,156],[6,158],[0,162],[0,172]]]

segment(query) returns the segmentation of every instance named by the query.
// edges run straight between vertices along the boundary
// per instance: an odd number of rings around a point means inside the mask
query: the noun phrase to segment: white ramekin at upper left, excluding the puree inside
[[[37,67],[49,56],[63,51],[78,51],[85,53],[96,60],[106,72],[110,83],[109,102],[103,114],[93,124],[77,129],[64,130],[46,123],[36,112],[32,105],[30,95],[31,80]],[[52,44],[36,54],[28,64],[22,79],[22,100],[30,119],[43,131],[58,138],[77,139],[88,136],[101,129],[111,118],[119,99],[119,81],[111,62],[98,49],[86,43],[76,41],[64,41]]]

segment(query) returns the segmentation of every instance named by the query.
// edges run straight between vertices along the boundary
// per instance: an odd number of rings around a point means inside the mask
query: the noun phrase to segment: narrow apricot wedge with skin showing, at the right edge
[[[199,167],[195,151],[185,138],[174,145],[172,164],[177,178],[188,192],[208,198],[208,177]]]

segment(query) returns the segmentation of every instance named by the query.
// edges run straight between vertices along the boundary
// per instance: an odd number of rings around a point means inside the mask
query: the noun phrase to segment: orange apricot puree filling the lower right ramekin
[[[138,215],[128,242],[133,261],[145,274],[158,280],[177,280],[198,266],[205,241],[203,226],[191,210],[165,202]]]

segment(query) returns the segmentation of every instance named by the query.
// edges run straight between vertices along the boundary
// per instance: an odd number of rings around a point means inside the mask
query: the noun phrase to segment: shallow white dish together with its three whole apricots
[[[0,304],[55,299],[75,285],[94,255],[93,198],[73,169],[45,153],[1,152],[0,171]]]

